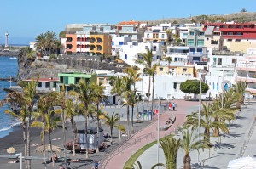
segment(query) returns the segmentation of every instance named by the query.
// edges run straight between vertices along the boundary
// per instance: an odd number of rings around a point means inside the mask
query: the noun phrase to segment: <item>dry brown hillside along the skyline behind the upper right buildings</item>
[[[160,19],[160,20],[147,20],[148,24],[159,24],[163,22],[171,22],[177,24],[185,23],[205,23],[205,22],[216,22],[216,21],[236,21],[236,22],[249,22],[256,21],[256,12],[239,12],[233,14],[211,14],[211,15],[199,15],[191,16],[188,18],[169,18],[169,19]]]

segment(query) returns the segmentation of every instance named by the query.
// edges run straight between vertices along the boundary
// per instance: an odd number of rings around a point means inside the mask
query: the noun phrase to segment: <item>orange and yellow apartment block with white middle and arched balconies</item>
[[[66,34],[66,54],[108,54],[111,55],[112,38],[105,33]]]

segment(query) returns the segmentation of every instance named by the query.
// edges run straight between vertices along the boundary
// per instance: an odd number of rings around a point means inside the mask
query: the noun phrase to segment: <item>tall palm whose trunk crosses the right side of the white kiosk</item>
[[[93,98],[94,99],[94,103],[96,104],[96,117],[97,117],[97,148],[96,148],[96,152],[99,152],[99,138],[100,138],[100,135],[99,135],[99,126],[100,126],[100,123],[99,123],[99,104],[101,103],[102,100],[105,99],[105,96],[103,95],[104,94],[104,91],[103,91],[103,88],[102,86],[99,86],[99,85],[96,85],[96,84],[93,84],[92,87],[94,88],[94,92],[95,92],[95,97]]]

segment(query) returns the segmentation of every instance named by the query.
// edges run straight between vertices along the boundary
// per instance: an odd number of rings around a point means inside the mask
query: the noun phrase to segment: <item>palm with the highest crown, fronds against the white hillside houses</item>
[[[153,61],[153,53],[152,50],[147,50],[147,53],[142,54],[143,59],[137,59],[136,62],[138,64],[141,64],[144,66],[144,69],[151,69],[152,67],[152,61]],[[143,70],[144,72],[144,70]],[[149,97],[150,97],[150,86],[151,86],[151,76],[149,75],[149,80],[148,80],[148,110],[149,110]]]

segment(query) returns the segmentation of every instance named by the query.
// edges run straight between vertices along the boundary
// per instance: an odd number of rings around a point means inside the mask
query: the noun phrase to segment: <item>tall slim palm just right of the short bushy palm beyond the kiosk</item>
[[[122,78],[120,76],[112,76],[110,81],[113,81],[113,87],[111,89],[112,94],[117,94],[118,96],[118,115],[119,115],[119,124],[120,124],[120,97],[123,93],[122,87]],[[121,132],[119,131],[119,142],[121,142]]]

